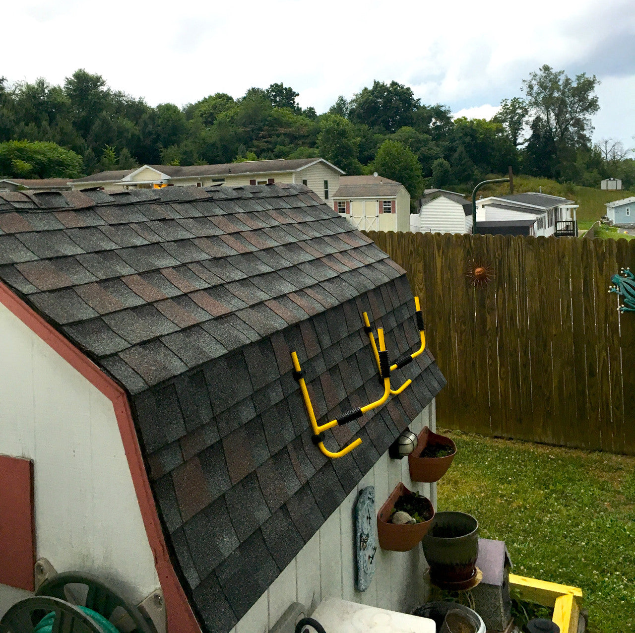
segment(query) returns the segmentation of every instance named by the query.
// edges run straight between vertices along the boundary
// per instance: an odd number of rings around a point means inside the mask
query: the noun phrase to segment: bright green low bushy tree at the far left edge
[[[81,156],[55,143],[0,143],[0,174],[17,177],[29,167],[29,175],[34,178],[78,178],[82,173],[83,162]]]

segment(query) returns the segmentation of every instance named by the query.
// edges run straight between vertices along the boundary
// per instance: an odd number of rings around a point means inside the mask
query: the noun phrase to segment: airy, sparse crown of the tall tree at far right
[[[564,70],[553,70],[545,64],[523,81],[527,105],[533,118],[540,117],[542,126],[556,145],[588,145],[593,131],[591,116],[598,112],[595,75],[582,72],[573,81]]]

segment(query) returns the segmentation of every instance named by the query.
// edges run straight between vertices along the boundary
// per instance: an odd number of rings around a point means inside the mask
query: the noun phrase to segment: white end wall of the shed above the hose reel
[[[0,453],[33,460],[36,556],[138,603],[159,587],[110,400],[0,303]],[[26,592],[0,585],[0,615]]]

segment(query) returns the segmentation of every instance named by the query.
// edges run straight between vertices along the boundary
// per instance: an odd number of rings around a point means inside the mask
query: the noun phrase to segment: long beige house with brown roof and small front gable
[[[300,158],[217,165],[142,165],[135,170],[101,171],[72,180],[70,185],[73,189],[110,191],[184,185],[208,187],[220,183],[229,186],[290,183],[306,185],[326,202],[339,188],[343,174],[344,171],[323,158]]]

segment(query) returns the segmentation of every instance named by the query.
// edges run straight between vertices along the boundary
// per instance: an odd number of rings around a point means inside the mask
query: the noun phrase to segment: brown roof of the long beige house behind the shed
[[[170,178],[197,178],[204,176],[229,176],[236,174],[256,174],[256,173],[280,173],[282,171],[301,171],[316,163],[324,163],[340,174],[344,171],[335,165],[325,161],[323,158],[297,158],[297,159],[276,159],[271,161],[244,161],[243,163],[222,163],[214,165],[142,165],[135,170],[124,171],[102,171],[86,176],[85,178],[77,178],[70,182],[109,182],[110,180],[123,180],[130,177],[133,173],[150,167]]]

